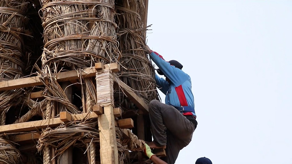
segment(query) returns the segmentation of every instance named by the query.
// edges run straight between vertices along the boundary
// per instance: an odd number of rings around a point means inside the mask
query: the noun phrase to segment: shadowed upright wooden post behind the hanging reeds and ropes
[[[71,83],[69,81],[61,83],[61,87],[65,92],[65,95],[68,97],[69,101],[72,102],[72,86],[69,86]],[[69,87],[68,87],[69,86]],[[59,111],[66,111],[63,107],[63,104],[59,104]],[[59,164],[73,164],[72,161],[73,146],[70,146],[64,153],[60,156]]]

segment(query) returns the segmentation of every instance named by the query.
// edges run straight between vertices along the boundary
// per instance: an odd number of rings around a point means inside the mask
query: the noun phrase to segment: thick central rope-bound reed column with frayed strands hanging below
[[[41,6],[45,45],[39,77],[47,89],[46,115],[52,116],[55,102],[62,104],[70,113],[80,113],[80,109],[64,94],[64,89],[56,82],[56,78],[60,71],[76,70],[80,73],[83,68],[94,66],[95,62],[106,64],[118,61],[120,53],[116,41],[114,0],[41,0]],[[79,83],[82,112],[85,113],[91,111],[97,102],[96,86],[93,78],[80,78]],[[46,131],[43,134],[47,134]],[[73,138],[70,139],[68,143],[74,141]],[[88,143],[84,144],[88,146]],[[93,144],[88,146],[91,150],[88,162],[91,164],[95,163]],[[49,146],[55,149],[53,145],[45,146],[44,163],[48,163],[50,159]],[[63,144],[58,146],[61,147],[57,149],[62,151],[67,148]],[[53,150],[51,153],[54,152]]]

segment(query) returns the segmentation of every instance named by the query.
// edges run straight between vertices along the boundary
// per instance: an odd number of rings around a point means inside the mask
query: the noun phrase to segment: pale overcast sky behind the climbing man
[[[176,163],[292,163],[292,1],[149,0],[150,24],[149,47],[192,78],[198,127]]]

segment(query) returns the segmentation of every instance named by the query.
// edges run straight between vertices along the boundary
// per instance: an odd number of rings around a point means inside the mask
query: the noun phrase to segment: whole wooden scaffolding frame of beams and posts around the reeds
[[[77,80],[79,78],[93,77],[97,76],[101,72],[106,72],[104,77],[105,80],[102,83],[103,85],[97,86],[97,92],[102,90],[103,94],[98,93],[98,99],[102,100],[101,104],[95,104],[93,107],[93,111],[89,111],[87,113],[82,114],[69,114],[67,111],[61,111],[59,117],[56,118],[48,118],[40,121],[30,121],[23,123],[15,123],[9,125],[0,126],[0,134],[6,134],[5,136],[19,144],[20,151],[34,150],[36,149],[37,143],[36,140],[39,139],[39,133],[33,133],[29,131],[33,130],[41,130],[45,128],[55,128],[62,123],[72,122],[72,121],[81,121],[86,119],[97,118],[98,120],[98,130],[99,130],[99,139],[100,139],[100,161],[101,163],[119,163],[118,160],[118,149],[117,149],[117,138],[116,138],[116,127],[121,128],[123,139],[129,139],[130,132],[129,128],[134,128],[134,121],[136,120],[136,135],[138,139],[145,140],[145,131],[149,132],[150,129],[145,130],[145,121],[144,116],[148,114],[148,106],[145,102],[125,83],[123,83],[119,78],[114,76],[114,72],[120,71],[120,65],[117,63],[112,64],[102,64],[95,63],[95,67],[85,68],[81,74],[78,74],[77,71],[66,71],[61,72],[58,75],[57,81],[59,83],[64,83],[67,81]],[[98,80],[99,77],[97,77]],[[111,82],[113,81],[113,83]],[[98,83],[98,82],[97,82]],[[32,87],[42,85],[39,77],[28,77],[10,81],[2,81],[0,82],[0,91],[4,90],[13,90],[24,87]],[[68,87],[68,86],[66,86]],[[98,88],[100,87],[100,88]],[[111,90],[113,88],[119,88],[123,91],[123,93],[131,100],[138,108],[138,112],[136,114],[128,114],[124,119],[115,119],[121,118],[121,110],[119,108],[114,108],[113,104],[110,103],[112,100],[105,100],[104,97],[112,97]],[[70,94],[70,90],[66,91],[66,94]],[[42,92],[30,93],[28,95],[30,98],[41,98],[43,97]],[[69,97],[69,96],[68,96]],[[109,102],[109,103],[108,103]],[[25,134],[18,135],[10,135],[15,133],[28,132]],[[138,148],[141,148],[141,141],[134,141]],[[155,154],[157,156],[165,156],[164,149],[157,149]],[[52,155],[51,155],[52,156]],[[76,161],[72,161],[73,159],[72,149],[67,149],[62,153],[60,158],[60,163],[70,164],[76,163]],[[138,158],[142,161],[142,154],[138,154]]]

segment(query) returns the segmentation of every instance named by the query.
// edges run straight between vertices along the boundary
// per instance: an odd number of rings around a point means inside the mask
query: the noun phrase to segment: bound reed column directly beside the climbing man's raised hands
[[[146,28],[139,13],[145,11],[143,1],[124,0],[115,6],[117,12],[117,24],[119,25],[117,35],[120,43],[119,49],[122,53],[121,64],[127,70],[119,73],[121,80],[133,90],[141,91],[141,98],[149,103],[158,99],[155,90],[155,72],[147,53],[144,50],[144,35]]]

